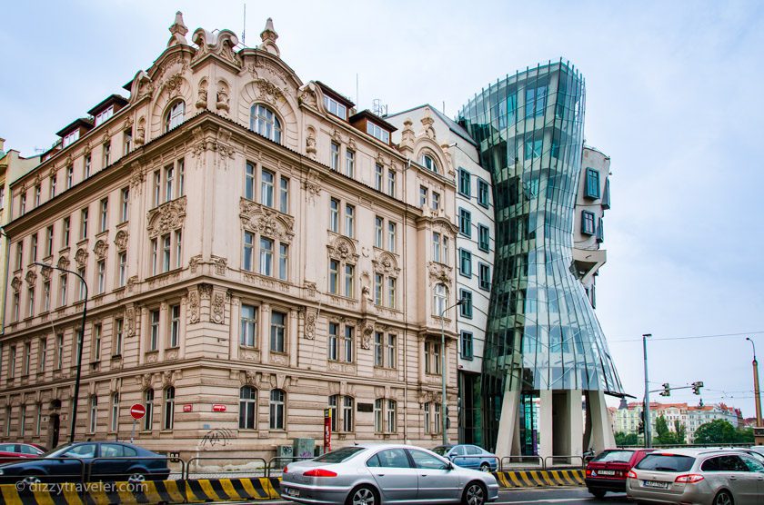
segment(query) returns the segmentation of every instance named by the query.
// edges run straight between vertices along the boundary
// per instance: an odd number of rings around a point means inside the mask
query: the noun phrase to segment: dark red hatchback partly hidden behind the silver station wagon
[[[602,498],[608,491],[626,492],[628,470],[654,449],[607,449],[587,465],[588,491]]]

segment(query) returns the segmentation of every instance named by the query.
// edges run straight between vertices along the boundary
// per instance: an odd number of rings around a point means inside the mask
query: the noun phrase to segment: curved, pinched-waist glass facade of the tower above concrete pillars
[[[488,444],[506,391],[521,391],[524,403],[542,390],[621,392],[605,335],[571,271],[584,102],[583,76],[559,62],[491,84],[459,113],[492,173],[496,207],[482,383]]]

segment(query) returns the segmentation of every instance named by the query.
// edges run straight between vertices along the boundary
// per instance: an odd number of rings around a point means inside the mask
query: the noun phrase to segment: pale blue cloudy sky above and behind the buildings
[[[597,313],[625,390],[704,381],[704,402],[754,415],[764,357],[764,4],[760,2],[14,2],[0,29],[0,136],[32,155],[146,69],[182,10],[370,108],[448,116],[481,87],[566,58],[587,83],[586,139],[611,157]],[[723,336],[713,336],[723,335]],[[709,337],[711,336],[711,337]],[[709,337],[709,338],[699,338]],[[764,366],[763,366],[764,367]],[[655,399],[667,400],[657,395]],[[697,404],[689,390],[669,401]],[[614,404],[618,404],[616,401]]]

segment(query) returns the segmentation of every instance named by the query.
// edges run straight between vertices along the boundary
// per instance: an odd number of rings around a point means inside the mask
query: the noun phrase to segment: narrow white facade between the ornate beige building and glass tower
[[[407,126],[410,127],[411,124],[422,124],[417,137],[431,138],[440,144],[457,170],[457,193],[453,213],[457,217],[458,233],[453,265],[457,272],[456,295],[463,303],[454,309],[459,335],[459,392],[457,416],[449,413],[449,421],[457,421],[458,441],[482,444],[479,384],[495,247],[490,173],[480,166],[477,144],[467,131],[435,107],[422,105],[386,116],[385,119],[402,132],[406,132]],[[399,140],[398,134],[394,134],[393,138]],[[427,153],[422,153],[416,159],[425,166],[432,164],[433,162],[425,156]],[[437,206],[440,197],[434,191],[428,188],[424,181],[420,185],[419,204],[422,208]],[[437,247],[437,244],[434,243],[433,247]]]

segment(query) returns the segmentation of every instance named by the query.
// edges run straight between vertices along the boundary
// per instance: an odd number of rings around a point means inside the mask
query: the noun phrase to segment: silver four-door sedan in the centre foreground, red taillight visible
[[[483,505],[498,499],[493,475],[401,444],[361,444],[286,465],[281,497],[300,503],[380,505],[413,500]]]

